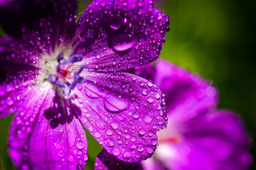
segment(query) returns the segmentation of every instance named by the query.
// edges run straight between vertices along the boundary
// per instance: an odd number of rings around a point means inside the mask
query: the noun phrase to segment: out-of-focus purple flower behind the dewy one
[[[97,169],[248,169],[252,157],[241,118],[216,110],[218,93],[211,83],[165,60],[135,73],[153,80],[166,94],[168,127],[157,132],[159,145],[152,158],[129,164],[103,150]]]

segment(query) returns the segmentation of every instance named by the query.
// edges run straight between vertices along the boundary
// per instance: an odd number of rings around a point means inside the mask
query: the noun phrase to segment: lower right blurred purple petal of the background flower
[[[212,111],[183,127],[186,131],[180,142],[159,144],[157,148],[156,157],[169,169],[239,170],[252,163],[248,135],[241,119],[231,111]]]

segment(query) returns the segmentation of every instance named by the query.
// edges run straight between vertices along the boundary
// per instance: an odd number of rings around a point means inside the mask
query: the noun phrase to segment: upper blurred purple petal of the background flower
[[[216,107],[218,92],[210,82],[165,60],[157,60],[156,68],[138,67],[143,78],[148,72],[165,94],[168,124],[177,124]],[[172,121],[172,122],[170,122]]]

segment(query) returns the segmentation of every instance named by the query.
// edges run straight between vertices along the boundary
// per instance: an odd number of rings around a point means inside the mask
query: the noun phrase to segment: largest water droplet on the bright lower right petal
[[[104,108],[111,113],[120,113],[129,108],[129,102],[124,97],[108,96],[104,101]]]

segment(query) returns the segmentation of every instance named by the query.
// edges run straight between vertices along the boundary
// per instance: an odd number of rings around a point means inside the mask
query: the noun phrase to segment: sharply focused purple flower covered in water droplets
[[[157,59],[169,18],[151,0],[96,0],[77,22],[77,1],[23,3],[0,38],[0,117],[15,113],[17,169],[82,169],[84,127],[120,160],[150,157],[166,126],[161,91],[122,71]]]

